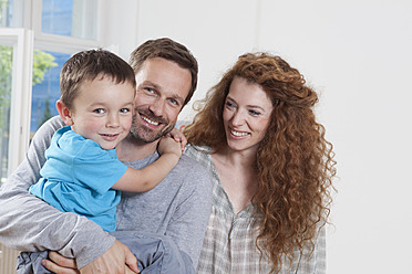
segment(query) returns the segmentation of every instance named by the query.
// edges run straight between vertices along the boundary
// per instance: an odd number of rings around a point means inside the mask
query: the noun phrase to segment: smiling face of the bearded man
[[[143,63],[136,84],[136,112],[131,134],[138,140],[152,143],[175,126],[192,87],[192,75],[172,61],[155,57]]]

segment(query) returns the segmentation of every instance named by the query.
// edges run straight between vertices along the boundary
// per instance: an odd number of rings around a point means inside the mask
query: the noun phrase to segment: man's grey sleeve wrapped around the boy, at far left
[[[74,213],[63,213],[30,194],[40,178],[44,150],[63,122],[53,117],[34,135],[23,162],[0,188],[0,242],[20,251],[59,251],[75,257],[79,267],[89,264],[114,243],[97,224]]]

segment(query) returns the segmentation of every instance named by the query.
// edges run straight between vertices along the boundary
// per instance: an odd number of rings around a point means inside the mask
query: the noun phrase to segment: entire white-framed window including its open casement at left
[[[101,6],[97,0],[0,0],[1,181],[23,159],[30,136],[58,114],[65,61],[75,52],[104,48],[97,30]]]

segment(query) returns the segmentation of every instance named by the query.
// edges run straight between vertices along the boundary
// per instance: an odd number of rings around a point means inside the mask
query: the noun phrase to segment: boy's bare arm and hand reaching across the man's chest
[[[161,157],[142,169],[127,167],[126,172],[117,180],[112,189],[130,192],[145,192],[156,187],[176,166],[182,156],[181,143],[171,137],[162,138],[158,152]]]

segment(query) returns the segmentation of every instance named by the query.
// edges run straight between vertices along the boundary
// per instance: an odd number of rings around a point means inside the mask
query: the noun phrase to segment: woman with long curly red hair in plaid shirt
[[[245,54],[185,128],[214,178],[197,273],[325,273],[336,175],[318,96],[279,56]]]

